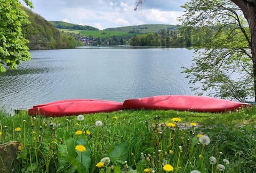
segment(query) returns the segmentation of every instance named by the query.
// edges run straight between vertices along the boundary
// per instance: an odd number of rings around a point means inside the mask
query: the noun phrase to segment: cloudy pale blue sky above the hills
[[[21,0],[20,0],[21,1]],[[30,0],[35,13],[48,21],[90,25],[100,30],[140,24],[180,24],[180,5],[188,0]],[[23,1],[21,1],[22,4]]]

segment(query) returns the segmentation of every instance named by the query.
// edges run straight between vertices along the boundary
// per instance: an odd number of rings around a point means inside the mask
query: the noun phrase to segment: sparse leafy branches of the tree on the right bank
[[[198,94],[245,101],[254,96],[250,30],[231,1],[190,1],[182,6],[186,31],[198,30],[204,45],[194,46],[193,65],[185,73]],[[200,27],[200,28],[199,28]],[[197,87],[201,83],[202,87]]]

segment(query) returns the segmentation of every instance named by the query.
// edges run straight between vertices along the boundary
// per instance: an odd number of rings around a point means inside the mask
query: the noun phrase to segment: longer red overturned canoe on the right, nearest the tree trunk
[[[250,106],[250,104],[211,97],[178,95],[128,99],[123,103],[124,109],[173,109],[212,113],[235,110],[243,106]]]

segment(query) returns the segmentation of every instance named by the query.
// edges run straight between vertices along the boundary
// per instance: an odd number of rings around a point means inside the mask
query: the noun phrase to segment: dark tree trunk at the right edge
[[[253,77],[254,77],[254,101],[256,101],[256,0],[231,0],[241,8],[247,20],[251,33],[249,46],[252,53]]]

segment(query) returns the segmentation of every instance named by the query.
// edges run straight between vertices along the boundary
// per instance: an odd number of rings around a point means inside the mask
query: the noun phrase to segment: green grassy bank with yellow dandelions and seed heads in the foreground
[[[2,111],[0,143],[21,143],[14,172],[256,172],[255,115],[255,106],[56,118]]]

